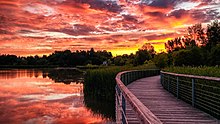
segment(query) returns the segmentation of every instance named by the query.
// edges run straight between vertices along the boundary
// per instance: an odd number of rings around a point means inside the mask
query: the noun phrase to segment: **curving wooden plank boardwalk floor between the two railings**
[[[164,124],[220,124],[220,120],[193,108],[163,89],[159,76],[139,79],[127,87]],[[139,123],[130,105],[126,105],[128,122]]]

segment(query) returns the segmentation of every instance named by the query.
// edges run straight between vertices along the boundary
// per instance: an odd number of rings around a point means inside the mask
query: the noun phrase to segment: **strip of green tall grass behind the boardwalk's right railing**
[[[220,77],[220,67],[169,67],[163,69],[163,71],[174,72],[179,74],[190,74],[199,76]]]

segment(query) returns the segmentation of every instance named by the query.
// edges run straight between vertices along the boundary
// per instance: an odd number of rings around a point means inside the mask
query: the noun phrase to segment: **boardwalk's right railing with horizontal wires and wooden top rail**
[[[161,84],[177,98],[220,119],[220,78],[161,71]]]

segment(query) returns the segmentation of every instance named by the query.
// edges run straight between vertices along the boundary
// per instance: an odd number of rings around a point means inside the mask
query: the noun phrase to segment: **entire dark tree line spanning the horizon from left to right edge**
[[[106,50],[95,51],[55,51],[49,56],[20,57],[0,55],[0,65],[56,65],[74,67],[78,65],[142,65],[155,63],[158,67],[167,66],[215,66],[220,65],[220,22],[217,20],[207,25],[188,27],[187,35],[168,40],[165,43],[167,52],[158,53],[150,43],[146,43],[135,54],[124,54],[113,57]]]

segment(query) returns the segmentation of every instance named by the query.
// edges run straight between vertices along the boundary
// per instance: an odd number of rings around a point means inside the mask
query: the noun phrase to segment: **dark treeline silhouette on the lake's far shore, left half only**
[[[27,56],[20,57],[16,55],[0,55],[0,65],[56,65],[56,66],[76,66],[76,65],[101,65],[104,61],[112,58],[111,52],[95,51],[93,48],[89,51],[55,51],[49,56],[42,57]]]

